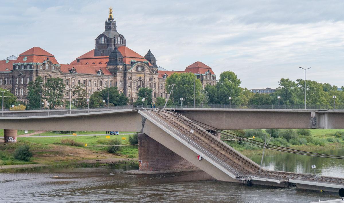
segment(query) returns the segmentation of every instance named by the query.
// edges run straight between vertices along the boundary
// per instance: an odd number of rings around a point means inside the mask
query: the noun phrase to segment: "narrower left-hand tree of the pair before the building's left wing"
[[[30,81],[28,85],[29,103],[26,105],[27,109],[40,109],[42,105],[41,104],[41,83],[38,83],[38,82],[43,82],[43,78],[41,76],[38,76],[35,81]],[[42,93],[44,93],[43,83],[42,83]]]

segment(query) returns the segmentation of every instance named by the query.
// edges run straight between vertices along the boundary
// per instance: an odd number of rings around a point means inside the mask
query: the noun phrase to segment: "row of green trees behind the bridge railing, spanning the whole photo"
[[[194,104],[194,93],[196,105],[207,104],[229,104],[228,97],[232,97],[232,104],[278,104],[277,97],[280,96],[280,104],[304,104],[304,80],[298,79],[292,81],[289,78],[281,78],[278,81],[279,87],[276,92],[271,94],[252,93],[249,89],[241,87],[241,80],[232,71],[224,71],[220,74],[216,85],[207,84],[204,88],[200,80],[195,80],[193,73],[173,73],[166,79],[166,94],[171,92],[168,105],[180,105],[183,98],[183,104]],[[37,82],[36,82],[37,81]],[[43,82],[42,77],[37,77],[35,81],[29,82],[27,109],[39,109],[41,89],[40,83]],[[172,84],[175,84],[171,91]],[[67,90],[66,90],[67,89]],[[195,92],[194,92],[195,89]],[[343,86],[342,86],[342,89]],[[5,91],[4,89],[0,89]],[[312,105],[332,105],[333,98],[336,96],[336,104],[344,104],[344,92],[338,90],[337,86],[329,83],[318,83],[316,81],[306,81],[306,103]],[[56,106],[68,107],[69,102],[63,103],[63,98],[68,97],[68,88],[66,88],[61,78],[49,78],[42,83],[42,101],[49,102],[49,108]],[[71,90],[75,107],[87,107],[86,98],[89,98],[90,107],[102,107],[107,104],[108,87],[94,92],[88,96],[83,84],[77,84]],[[142,105],[142,98],[145,98],[143,105],[153,104],[155,100],[156,106],[165,104],[165,95],[158,95],[153,98],[153,89],[139,88],[138,99],[133,104]],[[2,95],[1,95],[2,96]],[[4,93],[4,106],[9,108],[12,104],[17,104],[17,98],[9,91]],[[159,97],[160,96],[160,97]],[[2,97],[0,97],[0,102]],[[117,87],[109,87],[109,106],[127,105],[128,97],[120,93]]]

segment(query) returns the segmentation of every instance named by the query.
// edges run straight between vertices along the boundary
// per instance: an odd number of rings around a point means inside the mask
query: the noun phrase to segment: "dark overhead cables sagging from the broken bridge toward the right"
[[[168,111],[163,111],[163,112],[168,112]],[[169,113],[169,112],[168,112],[168,113]],[[170,113],[169,113],[169,114],[170,114]],[[165,116],[166,116],[166,115],[165,115]],[[174,115],[174,116],[176,116],[176,115]],[[166,117],[169,117],[169,116],[166,116]],[[182,117],[180,117],[180,116],[176,116],[176,117],[182,118]],[[186,117],[186,116],[185,116],[185,117]],[[172,117],[169,117],[169,118],[174,119],[174,120],[177,120],[177,119],[172,118]],[[186,118],[187,118],[187,117],[186,117]],[[184,119],[184,118],[182,118],[182,119]],[[190,118],[189,118],[189,119],[190,119]],[[181,122],[181,121],[179,121],[179,122]],[[193,121],[189,121],[189,122],[194,123],[194,124],[197,124],[197,125],[202,126],[202,127],[206,127],[206,126],[200,125],[199,123],[195,123],[195,122],[193,122]],[[197,121],[197,122],[198,122],[198,121]],[[184,122],[182,122],[182,123],[184,123]],[[201,123],[201,122],[200,122],[200,123]],[[194,127],[194,126],[191,126],[191,125],[188,124],[188,123],[184,123],[184,124],[186,124],[186,125],[188,125],[188,126],[190,126],[190,127],[192,127],[192,128],[196,128],[196,127]],[[202,123],[202,124],[204,124],[204,123]],[[206,124],[206,125],[207,125],[207,124]],[[211,126],[209,126],[209,125],[207,125],[207,126],[208,126],[208,127],[211,127]],[[196,128],[196,129],[199,129],[199,130],[204,131],[203,129],[200,129],[200,128]],[[262,143],[262,142],[259,142],[259,141],[247,140],[246,142],[242,142],[242,141],[240,141],[240,140],[246,139],[245,137],[238,136],[238,135],[235,135],[235,134],[233,134],[233,133],[230,133],[230,134],[223,133],[223,132],[218,131],[218,129],[217,129],[217,130],[210,129],[210,130],[213,130],[213,131],[215,131],[215,132],[219,132],[219,133],[221,133],[221,134],[225,134],[225,135],[230,136],[230,137],[232,137],[232,138],[238,139],[238,140],[234,140],[234,141],[236,141],[236,142],[243,143],[243,144],[248,144],[248,145],[252,145],[252,146],[256,146],[256,147],[260,147],[260,148],[268,148],[268,149],[275,150],[275,151],[287,152],[287,153],[292,153],[292,154],[307,155],[307,156],[344,159],[343,156],[337,156],[337,155],[329,155],[329,154],[320,154],[320,153],[313,153],[313,152],[307,152],[307,151],[300,151],[300,150],[294,150],[294,149],[290,149],[290,148],[286,148],[286,147],[280,147],[280,146],[276,146],[276,145],[267,145],[267,146],[265,146],[265,143]],[[206,132],[207,132],[207,133],[211,133],[211,132],[208,132],[208,131],[206,131]],[[211,133],[211,134],[218,136],[218,135],[215,134],[215,133]],[[232,135],[231,135],[231,134],[232,134]],[[224,137],[224,136],[221,136],[221,135],[220,135],[220,137],[222,137],[222,138],[228,138],[228,137]],[[247,143],[247,142],[249,142],[249,143]],[[250,144],[250,143],[251,143],[251,144]],[[320,156],[320,155],[322,155],[322,156]]]

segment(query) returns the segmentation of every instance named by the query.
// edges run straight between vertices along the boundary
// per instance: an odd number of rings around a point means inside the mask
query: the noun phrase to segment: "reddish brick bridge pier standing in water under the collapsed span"
[[[138,150],[140,171],[197,169],[195,165],[143,133],[138,134]]]

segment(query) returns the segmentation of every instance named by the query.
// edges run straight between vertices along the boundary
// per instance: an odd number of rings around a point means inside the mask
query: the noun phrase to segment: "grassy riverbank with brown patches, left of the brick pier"
[[[118,138],[121,144],[129,144],[129,135],[110,135],[110,139]],[[126,138],[126,140],[122,140]],[[81,146],[70,146],[61,144],[62,139],[72,139]],[[104,158],[136,158],[138,156],[137,146],[123,146],[118,154],[108,153],[107,147],[89,147],[92,145],[107,145],[110,140],[105,135],[100,136],[71,136],[68,138],[45,137],[45,138],[17,138],[17,143],[0,145],[0,165],[12,164],[62,164],[76,162],[85,159]],[[85,147],[87,143],[88,147]],[[27,144],[33,153],[30,162],[15,160],[12,156],[15,148]]]

